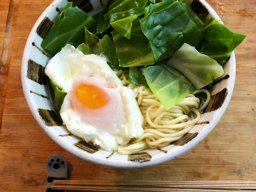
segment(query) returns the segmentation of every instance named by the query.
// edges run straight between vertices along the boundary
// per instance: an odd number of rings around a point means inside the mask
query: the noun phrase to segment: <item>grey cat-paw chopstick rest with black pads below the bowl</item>
[[[61,155],[51,155],[46,162],[47,166],[47,187],[46,192],[64,192],[66,190],[51,189],[54,179],[67,180],[68,179],[68,162]]]

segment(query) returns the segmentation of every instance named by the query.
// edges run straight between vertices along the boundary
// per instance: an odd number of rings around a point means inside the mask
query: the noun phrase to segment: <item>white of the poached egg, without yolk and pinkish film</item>
[[[92,142],[104,150],[113,151],[117,150],[119,145],[126,145],[131,138],[138,138],[143,133],[143,116],[135,95],[132,90],[123,86],[115,71],[108,66],[106,58],[95,54],[84,55],[74,46],[66,45],[49,60],[45,74],[67,92],[60,109],[60,115],[63,124],[74,135],[86,142]],[[96,79],[99,77],[99,79],[103,79],[102,81],[114,85],[115,92],[119,95],[118,98],[121,98],[118,105],[111,104],[111,102],[119,102],[116,101],[118,99],[113,99],[108,103],[109,106],[104,109],[107,111],[104,113],[105,115],[99,113],[100,115],[96,117],[98,119],[95,122],[102,121],[101,126],[92,121],[89,123],[86,118],[83,118],[85,114],[81,114],[71,107],[72,101],[70,101],[69,95],[72,92],[72,85],[84,77],[95,77]],[[92,84],[94,83],[92,82]],[[111,95],[112,93],[108,94]],[[89,110],[87,116],[90,117],[93,113],[90,114]],[[97,115],[97,112],[94,114]],[[106,119],[106,115],[112,121],[110,121],[111,124],[108,122],[107,125],[104,125],[105,120],[103,119]]]

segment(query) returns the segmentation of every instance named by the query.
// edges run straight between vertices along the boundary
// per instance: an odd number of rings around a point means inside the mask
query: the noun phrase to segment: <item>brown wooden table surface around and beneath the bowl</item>
[[[51,1],[0,3],[0,191],[45,191],[46,160],[52,154],[73,165],[74,180],[256,180],[256,0],[208,1],[226,26],[247,35],[235,51],[235,89],[219,124],[179,158],[135,170],[102,167],[69,154],[44,133],[28,109],[20,79],[23,48]]]

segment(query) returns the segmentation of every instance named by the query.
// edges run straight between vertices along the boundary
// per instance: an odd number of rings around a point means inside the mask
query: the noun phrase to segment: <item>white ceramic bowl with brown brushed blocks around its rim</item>
[[[100,1],[93,2],[93,11],[100,9]],[[44,67],[49,60],[48,55],[42,49],[41,42],[52,25],[52,21],[68,3],[67,0],[55,0],[36,21],[31,30],[22,58],[21,78],[22,87],[28,107],[34,115],[37,123],[58,145],[71,154],[84,159],[87,162],[118,168],[145,167],[170,161],[186,153],[196,146],[209,134],[220,121],[231,98],[235,82],[235,54],[231,54],[225,65],[225,75],[215,83],[211,92],[211,101],[199,122],[185,137],[172,145],[159,149],[144,150],[135,155],[119,155],[90,146],[81,139],[70,134],[58,120],[50,99]],[[204,0],[201,3],[209,10],[209,17],[220,18],[217,13]]]

